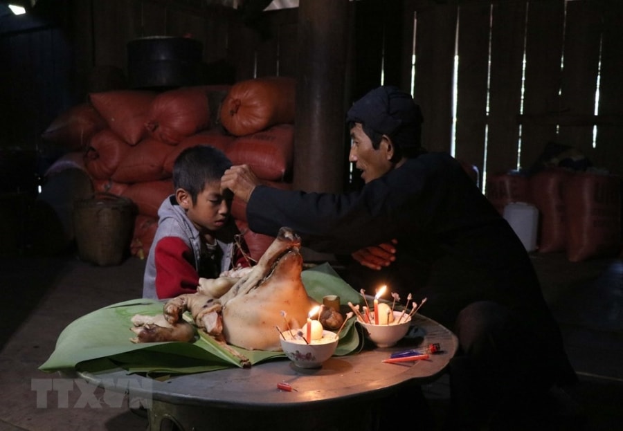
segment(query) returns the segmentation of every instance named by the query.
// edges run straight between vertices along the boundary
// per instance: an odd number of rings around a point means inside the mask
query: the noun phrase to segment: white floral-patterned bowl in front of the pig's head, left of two
[[[293,330],[294,333],[296,331]],[[332,331],[323,330],[323,337],[306,344],[300,337],[293,339],[289,331],[282,332],[281,348],[286,356],[300,368],[318,368],[331,358],[338,345],[339,338]],[[285,340],[284,340],[285,338]]]

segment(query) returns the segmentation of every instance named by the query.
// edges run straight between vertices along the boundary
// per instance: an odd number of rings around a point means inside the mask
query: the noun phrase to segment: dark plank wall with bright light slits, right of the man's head
[[[405,10],[417,21],[413,94],[428,149],[495,173],[530,169],[556,142],[623,174],[623,2],[406,0]]]

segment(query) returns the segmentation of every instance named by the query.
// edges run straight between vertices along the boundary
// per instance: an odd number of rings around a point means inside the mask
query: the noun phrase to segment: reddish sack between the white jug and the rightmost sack
[[[530,193],[534,206],[541,213],[539,253],[552,253],[566,248],[566,210],[563,187],[571,172],[550,168],[530,177]]]

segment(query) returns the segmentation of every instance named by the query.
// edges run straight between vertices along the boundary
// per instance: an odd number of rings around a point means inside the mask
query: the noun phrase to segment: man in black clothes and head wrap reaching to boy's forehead
[[[228,169],[222,187],[246,201],[251,230],[289,226],[309,248],[381,268],[401,297],[426,297],[422,313],[459,338],[449,428],[508,429],[552,385],[576,378],[530,257],[460,163],[424,152],[410,95],[381,86],[353,104],[347,122],[361,190],[276,190],[246,166]]]

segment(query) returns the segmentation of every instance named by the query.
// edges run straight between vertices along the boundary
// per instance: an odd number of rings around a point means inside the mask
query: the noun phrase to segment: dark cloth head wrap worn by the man
[[[374,143],[387,135],[406,157],[422,153],[422,111],[410,94],[395,86],[379,86],[354,102],[346,113],[350,124],[360,122]]]

